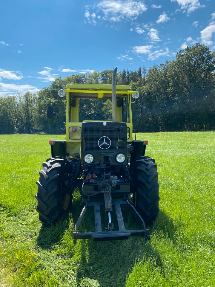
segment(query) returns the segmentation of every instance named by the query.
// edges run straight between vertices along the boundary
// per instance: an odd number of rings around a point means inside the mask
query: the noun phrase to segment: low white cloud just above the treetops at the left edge
[[[5,84],[0,82],[1,93],[4,96],[9,94],[17,94],[17,93],[24,93],[29,91],[31,93],[36,93],[39,91],[38,88],[31,86],[31,85],[16,85],[16,84]]]

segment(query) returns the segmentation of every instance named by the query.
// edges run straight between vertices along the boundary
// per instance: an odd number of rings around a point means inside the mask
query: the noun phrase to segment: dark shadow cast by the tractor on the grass
[[[75,271],[76,286],[123,287],[129,275],[133,272],[133,268],[144,265],[146,261],[153,261],[157,268],[163,270],[162,258],[155,244],[152,241],[145,242],[144,237],[141,236],[130,237],[128,240],[101,242],[93,242],[91,239],[78,239],[77,245],[73,246],[74,225],[83,207],[81,195],[76,193],[70,214],[67,213],[62,216],[51,227],[42,226],[37,237],[37,245],[41,249],[51,249],[67,233],[69,238],[66,244],[69,244],[73,252],[79,256],[79,264]],[[122,207],[125,228],[139,229],[140,227],[133,214],[128,212],[127,208]],[[89,208],[79,232],[93,231],[94,224],[94,211],[93,208]],[[180,225],[180,222],[174,225],[172,219],[162,210],[159,210],[156,222],[153,226],[147,228],[150,228],[152,237],[162,236],[175,245],[178,224]]]

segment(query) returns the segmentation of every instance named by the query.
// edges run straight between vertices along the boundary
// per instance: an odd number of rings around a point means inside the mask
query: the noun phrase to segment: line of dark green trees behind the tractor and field
[[[154,65],[146,71],[119,71],[116,83],[130,85],[140,96],[132,105],[133,120],[137,119],[142,105],[147,118],[140,120],[137,131],[182,131],[215,129],[215,52],[196,43],[176,54],[176,59]],[[73,74],[56,78],[49,87],[37,94],[0,98],[0,134],[60,133],[57,118],[47,118],[47,106],[65,120],[65,103],[57,92],[68,83],[112,84],[112,70]],[[80,117],[100,112],[111,115],[111,101],[80,100]],[[135,128],[135,126],[134,126]]]

